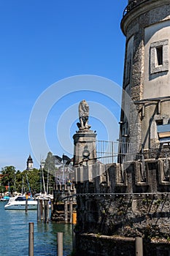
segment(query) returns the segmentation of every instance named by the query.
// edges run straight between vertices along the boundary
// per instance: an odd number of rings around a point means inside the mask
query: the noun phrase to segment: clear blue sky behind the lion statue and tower
[[[39,160],[47,156],[47,151],[41,147],[39,156],[37,153],[34,156],[28,130],[37,99],[46,95],[51,85],[56,85],[56,98],[63,89],[58,81],[73,76],[99,76],[122,85],[125,37],[120,30],[120,20],[126,5],[127,0],[0,2],[0,169],[13,165],[17,170],[25,170],[29,154],[34,166],[39,167]],[[66,118],[82,99],[92,102],[91,106],[93,102],[96,106],[102,105],[108,116],[111,111],[119,121],[119,110],[112,99],[98,91],[83,90],[81,85],[80,91],[74,91],[73,86],[72,92],[65,91],[49,109],[45,138],[53,154],[71,156],[66,141],[72,143],[78,114],[73,113],[68,125]],[[46,103],[44,100],[42,105]],[[109,127],[104,121],[107,114],[99,111],[102,120],[94,113],[89,122],[97,131],[98,139],[107,140]],[[68,129],[62,143],[57,138],[62,131],[58,121],[64,116],[65,123],[61,121],[61,126],[66,125]],[[37,143],[41,140],[36,137]]]

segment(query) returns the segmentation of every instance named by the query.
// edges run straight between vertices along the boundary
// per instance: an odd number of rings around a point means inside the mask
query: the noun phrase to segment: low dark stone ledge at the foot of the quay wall
[[[135,256],[135,238],[82,234],[77,236],[77,254],[81,256]],[[81,246],[80,246],[81,244]],[[144,256],[169,256],[170,244],[163,241],[143,241]]]

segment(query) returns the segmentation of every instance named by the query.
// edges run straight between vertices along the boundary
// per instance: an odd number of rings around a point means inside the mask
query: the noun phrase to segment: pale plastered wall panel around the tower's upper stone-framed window
[[[170,7],[169,7],[170,11]],[[163,65],[157,62],[156,48],[163,45]],[[144,29],[144,92],[143,99],[170,95],[169,73],[170,20]]]

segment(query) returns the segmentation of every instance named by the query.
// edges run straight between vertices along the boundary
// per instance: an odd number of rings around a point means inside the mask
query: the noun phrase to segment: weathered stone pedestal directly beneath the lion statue
[[[96,162],[96,133],[90,129],[80,129],[73,139],[74,167],[93,165]]]

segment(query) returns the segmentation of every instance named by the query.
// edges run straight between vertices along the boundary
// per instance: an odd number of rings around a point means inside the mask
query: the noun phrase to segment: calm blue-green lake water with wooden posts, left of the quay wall
[[[57,255],[57,233],[63,232],[63,255],[72,252],[72,225],[36,221],[36,211],[4,210],[0,201],[0,256],[28,255],[28,223],[34,222],[34,256]]]

